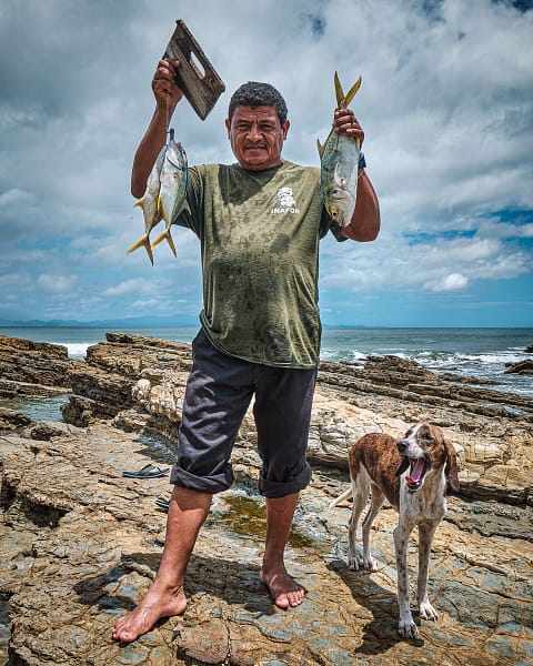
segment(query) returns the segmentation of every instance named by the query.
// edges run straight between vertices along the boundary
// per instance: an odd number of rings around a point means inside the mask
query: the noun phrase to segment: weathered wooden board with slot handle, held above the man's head
[[[205,120],[219,97],[224,92],[225,85],[184,21],[179,19],[175,22],[177,28],[163,58],[180,61],[181,67],[177,71],[175,82],[198,115]]]

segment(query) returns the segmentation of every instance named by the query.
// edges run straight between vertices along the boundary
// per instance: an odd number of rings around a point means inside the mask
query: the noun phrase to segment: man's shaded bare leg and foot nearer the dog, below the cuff
[[[279,608],[300,605],[305,594],[289,576],[283,561],[298,498],[299,493],[266,497],[266,543],[260,578]]]

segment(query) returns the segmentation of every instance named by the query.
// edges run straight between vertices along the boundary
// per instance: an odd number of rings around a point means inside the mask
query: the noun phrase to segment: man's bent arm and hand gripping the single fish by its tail
[[[333,128],[335,132],[359,139],[363,144],[364,132],[350,109],[336,109]],[[352,221],[341,233],[353,241],[374,241],[380,233],[380,202],[364,169],[360,169],[358,175],[355,210]]]

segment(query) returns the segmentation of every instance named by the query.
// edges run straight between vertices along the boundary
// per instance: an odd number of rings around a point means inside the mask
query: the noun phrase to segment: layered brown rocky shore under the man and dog
[[[313,481],[302,494],[289,564],[308,591],[290,612],[258,579],[264,512],[247,416],[235,488],[213,507],[188,581],[182,618],[133,645],[111,627],[142,596],[164,542],[168,480],[123,470],[170,465],[190,345],[109,333],[87,361],[61,345],[0,336],[0,401],[66,395],[63,422],[0,407],[2,468],[0,663],[527,664],[533,660],[533,400],[435,375],[395,357],[322,363],[310,434]],[[438,531],[430,597],[438,623],[396,634],[394,513],[373,536],[375,574],[345,565],[346,450],[366,432],[439,424],[460,457],[460,493]],[[415,568],[415,542],[410,552]],[[3,628],[2,628],[3,627]]]

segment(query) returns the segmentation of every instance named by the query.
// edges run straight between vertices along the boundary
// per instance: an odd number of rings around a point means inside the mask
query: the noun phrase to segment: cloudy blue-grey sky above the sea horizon
[[[283,155],[319,165],[333,74],[362,87],[382,229],[321,242],[326,325],[533,327],[533,1],[2,0],[0,322],[193,321],[199,242],[173,232],[154,265],[130,193],[151,79],[183,19],[224,80],[201,121],[171,122],[189,162],[233,162],[241,83],[275,85]]]

